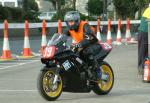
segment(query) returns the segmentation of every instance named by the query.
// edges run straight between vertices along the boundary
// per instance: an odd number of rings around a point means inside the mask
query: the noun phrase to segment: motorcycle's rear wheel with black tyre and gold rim
[[[98,82],[94,82],[93,92],[98,95],[105,95],[110,92],[114,84],[114,73],[111,66],[106,62],[101,62],[98,69],[102,75],[107,76],[105,80],[101,79]]]

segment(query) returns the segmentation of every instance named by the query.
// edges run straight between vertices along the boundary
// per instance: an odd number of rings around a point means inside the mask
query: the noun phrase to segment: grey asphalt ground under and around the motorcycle
[[[137,45],[115,46],[106,61],[115,74],[108,95],[65,92],[52,103],[150,103],[150,84],[137,72]],[[42,67],[39,57],[0,62],[0,103],[48,103],[37,91]]]

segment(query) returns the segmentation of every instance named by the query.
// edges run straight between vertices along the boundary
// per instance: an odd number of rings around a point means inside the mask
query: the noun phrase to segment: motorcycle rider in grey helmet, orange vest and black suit
[[[94,68],[94,56],[93,56],[93,44],[98,40],[94,35],[94,32],[90,28],[90,25],[86,21],[80,21],[80,15],[77,11],[69,11],[65,14],[64,21],[67,24],[67,30],[65,34],[71,36],[75,48],[79,52],[80,57],[88,63],[88,75],[90,79],[97,80],[96,72],[93,72]],[[92,71],[91,71],[92,70]]]

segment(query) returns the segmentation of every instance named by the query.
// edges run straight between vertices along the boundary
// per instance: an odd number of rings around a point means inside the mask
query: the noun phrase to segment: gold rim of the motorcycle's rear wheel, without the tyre
[[[111,88],[111,86],[113,84],[113,73],[112,73],[110,67],[107,65],[102,65],[100,68],[101,68],[102,73],[107,74],[109,76],[109,78],[108,78],[107,82],[100,80],[98,82],[98,86],[101,88],[101,90],[107,91]]]

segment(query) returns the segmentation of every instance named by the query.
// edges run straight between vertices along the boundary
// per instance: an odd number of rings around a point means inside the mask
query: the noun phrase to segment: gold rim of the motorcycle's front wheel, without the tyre
[[[49,97],[57,97],[62,90],[62,79],[60,76],[58,77],[59,83],[57,84],[57,88],[55,90],[52,90],[53,78],[54,78],[53,71],[47,71],[43,77],[43,89]]]

